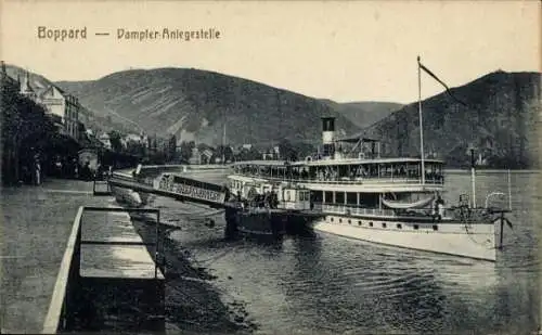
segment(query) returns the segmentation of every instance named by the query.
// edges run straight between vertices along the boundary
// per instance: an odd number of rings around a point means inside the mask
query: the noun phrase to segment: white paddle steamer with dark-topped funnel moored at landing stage
[[[321,212],[315,231],[367,242],[494,261],[506,210],[476,206],[473,194],[442,199],[443,162],[421,155],[384,157],[380,142],[337,139],[335,119],[322,118],[319,153],[300,162],[240,162],[229,176],[241,198],[276,194],[283,208]],[[490,194],[491,195],[491,194]]]

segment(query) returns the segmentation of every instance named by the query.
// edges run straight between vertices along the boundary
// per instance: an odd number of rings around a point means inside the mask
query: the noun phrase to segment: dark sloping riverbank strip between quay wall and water
[[[132,216],[133,224],[144,241],[154,241],[154,220]],[[162,229],[165,230],[164,228]],[[250,334],[257,325],[247,320],[242,301],[224,304],[214,286],[217,276],[191,261],[190,250],[164,234],[166,270],[166,332],[169,334]],[[159,247],[159,249],[162,249]],[[153,247],[149,247],[154,253]]]

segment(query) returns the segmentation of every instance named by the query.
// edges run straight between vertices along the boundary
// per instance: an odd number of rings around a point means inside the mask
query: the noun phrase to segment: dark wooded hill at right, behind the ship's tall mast
[[[452,94],[466,105],[447,92],[424,100],[425,152],[450,166],[465,166],[473,144],[488,167],[535,167],[540,76],[499,70],[453,88]],[[420,155],[417,102],[379,120],[366,134],[383,139],[389,155]]]

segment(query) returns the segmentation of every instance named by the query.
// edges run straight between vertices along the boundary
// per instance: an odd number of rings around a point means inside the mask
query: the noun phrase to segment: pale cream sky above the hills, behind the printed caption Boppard
[[[417,55],[451,87],[542,67],[540,1],[1,1],[1,59],[53,81],[193,67],[338,102],[409,103]],[[40,39],[39,26],[87,27],[87,38]],[[164,28],[220,36],[118,38],[118,29]],[[422,77],[423,98],[441,91]]]

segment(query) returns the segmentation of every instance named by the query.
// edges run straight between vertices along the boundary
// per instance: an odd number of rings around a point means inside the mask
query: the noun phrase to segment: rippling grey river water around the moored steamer
[[[512,173],[511,221],[495,263],[373,245],[315,233],[282,244],[223,241],[223,218],[205,207],[155,197],[170,239],[217,279],[224,302],[243,301],[256,334],[527,334],[540,324],[535,172]],[[198,178],[223,182],[224,176]],[[470,193],[467,171],[447,175],[447,204]],[[479,172],[477,202],[507,193],[507,175]],[[493,203],[495,204],[495,203]],[[507,199],[502,204],[507,205]]]

